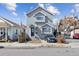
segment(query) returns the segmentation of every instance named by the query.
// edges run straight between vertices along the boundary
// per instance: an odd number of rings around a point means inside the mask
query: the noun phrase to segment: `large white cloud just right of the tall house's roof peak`
[[[60,11],[59,9],[57,9],[56,7],[54,7],[53,5],[47,3],[39,3],[38,4],[40,7],[45,8],[46,10],[48,10],[50,13],[55,14],[55,15],[60,15]]]

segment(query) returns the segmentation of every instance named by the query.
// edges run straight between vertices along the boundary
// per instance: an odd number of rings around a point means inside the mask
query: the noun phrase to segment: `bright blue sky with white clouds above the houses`
[[[26,14],[38,6],[55,14],[54,22],[72,14],[79,16],[79,4],[74,3],[0,3],[0,16],[26,25]]]

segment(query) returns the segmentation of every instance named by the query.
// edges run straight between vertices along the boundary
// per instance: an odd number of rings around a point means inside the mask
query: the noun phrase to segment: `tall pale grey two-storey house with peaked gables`
[[[56,26],[53,24],[53,14],[37,7],[27,13],[27,33],[30,37],[38,36],[44,38],[45,35],[53,34]]]

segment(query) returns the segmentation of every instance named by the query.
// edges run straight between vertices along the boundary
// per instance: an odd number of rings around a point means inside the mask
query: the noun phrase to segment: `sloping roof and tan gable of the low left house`
[[[18,24],[0,16],[0,27],[10,27],[10,26],[20,27]]]

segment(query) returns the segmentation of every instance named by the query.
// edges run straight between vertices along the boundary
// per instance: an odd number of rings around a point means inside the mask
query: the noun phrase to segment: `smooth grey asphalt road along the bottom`
[[[79,48],[0,49],[0,56],[79,56]]]

